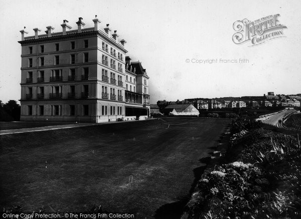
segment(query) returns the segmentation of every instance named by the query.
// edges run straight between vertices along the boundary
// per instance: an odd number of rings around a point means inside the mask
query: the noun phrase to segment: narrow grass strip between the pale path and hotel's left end
[[[67,125],[72,123],[48,123],[48,122],[0,122],[0,130],[10,130],[10,129],[25,129],[25,128],[35,128],[44,126],[58,126]]]

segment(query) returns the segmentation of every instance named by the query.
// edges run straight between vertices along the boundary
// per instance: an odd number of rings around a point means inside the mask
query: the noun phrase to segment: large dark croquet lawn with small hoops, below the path
[[[230,120],[164,120],[0,136],[1,209],[179,218]]]

